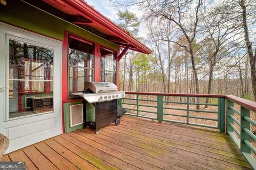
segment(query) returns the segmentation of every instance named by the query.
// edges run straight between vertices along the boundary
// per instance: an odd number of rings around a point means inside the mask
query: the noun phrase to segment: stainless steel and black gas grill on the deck
[[[81,96],[87,103],[92,103],[95,107],[95,121],[86,121],[86,109],[84,109],[84,126],[87,125],[95,128],[95,133],[98,134],[98,129],[115,122],[120,124],[120,118],[126,113],[126,110],[119,107],[117,99],[125,97],[124,91],[117,91],[117,86],[110,82],[84,82],[84,91],[75,92],[73,95]],[[86,103],[84,103],[84,106]]]

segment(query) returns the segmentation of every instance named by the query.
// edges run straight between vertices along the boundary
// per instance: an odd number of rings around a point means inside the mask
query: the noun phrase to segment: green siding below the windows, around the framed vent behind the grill
[[[82,103],[83,103],[83,101],[76,101],[76,102],[71,102],[71,103],[65,103],[63,105],[64,119],[65,119],[65,132],[66,133],[72,132],[72,131],[75,131],[76,129],[81,129],[84,127],[83,124],[80,124],[80,125],[70,128],[70,117],[69,117],[69,111],[70,111],[69,106],[82,104]],[[92,121],[93,117],[95,119],[95,109],[94,109],[94,106],[90,103],[86,103],[86,114],[87,114],[86,121]]]

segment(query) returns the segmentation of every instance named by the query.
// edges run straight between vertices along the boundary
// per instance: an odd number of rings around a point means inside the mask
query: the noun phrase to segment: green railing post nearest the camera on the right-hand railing
[[[245,144],[244,140],[251,142],[251,137],[247,134],[244,129],[248,129],[250,131],[250,122],[244,119],[245,116],[250,117],[250,110],[241,106],[241,138],[240,138],[240,147],[242,152],[246,152],[251,154],[251,149]]]

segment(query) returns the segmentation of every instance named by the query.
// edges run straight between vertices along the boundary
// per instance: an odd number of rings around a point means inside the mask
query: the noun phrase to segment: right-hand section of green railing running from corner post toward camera
[[[256,126],[256,122],[250,117],[251,112],[256,112],[256,103],[231,95],[226,98],[227,134],[241,150],[251,167],[256,169],[256,159],[252,155],[252,152],[256,154],[256,148],[252,145],[252,140],[256,141],[256,135],[251,132],[251,126]],[[239,109],[236,109],[234,104],[239,105]]]

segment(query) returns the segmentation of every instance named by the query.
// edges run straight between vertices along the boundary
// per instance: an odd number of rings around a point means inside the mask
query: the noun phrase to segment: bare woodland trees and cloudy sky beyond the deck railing
[[[120,90],[255,100],[256,1],[110,0],[110,5],[126,8],[118,12],[119,26],[153,50],[126,53],[119,62]],[[142,17],[127,10],[134,5]]]

